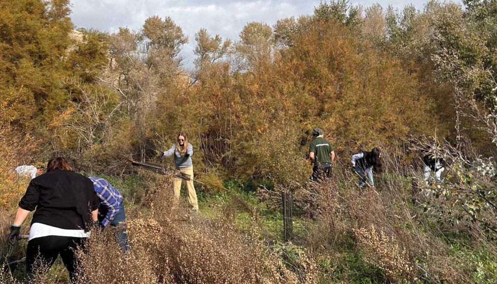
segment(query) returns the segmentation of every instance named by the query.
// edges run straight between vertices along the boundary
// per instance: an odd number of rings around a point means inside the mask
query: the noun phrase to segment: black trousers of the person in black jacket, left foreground
[[[25,283],[34,283],[33,278],[40,261],[43,266],[52,267],[60,254],[65,268],[69,271],[71,281],[75,280],[77,268],[75,250],[83,246],[85,238],[46,236],[34,238],[27,243],[26,251],[26,278]]]

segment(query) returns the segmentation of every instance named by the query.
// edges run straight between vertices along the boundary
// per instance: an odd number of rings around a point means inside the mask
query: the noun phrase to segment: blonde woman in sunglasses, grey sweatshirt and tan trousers
[[[188,143],[188,137],[185,132],[181,132],[177,135],[177,142],[174,143],[169,150],[164,151],[160,154],[160,158],[166,156],[169,157],[174,154],[174,166],[176,170],[180,171],[182,174],[186,174],[190,179],[193,179],[193,146]],[[182,180],[180,177],[174,177],[172,182],[174,187],[174,197],[176,199],[180,198],[180,190]],[[193,206],[194,211],[198,211],[197,204],[197,192],[193,186],[193,181],[186,181],[186,186],[188,189],[188,202]]]

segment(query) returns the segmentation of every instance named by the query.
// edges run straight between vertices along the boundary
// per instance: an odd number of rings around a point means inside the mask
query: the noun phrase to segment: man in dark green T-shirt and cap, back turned
[[[314,128],[314,139],[309,145],[309,158],[314,163],[310,180],[319,182],[325,177],[331,177],[331,163],[335,160],[335,151],[330,141],[323,138],[323,130]]]

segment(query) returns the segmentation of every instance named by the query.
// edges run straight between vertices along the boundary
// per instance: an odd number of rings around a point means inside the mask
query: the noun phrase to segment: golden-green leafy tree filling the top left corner
[[[0,123],[32,129],[66,99],[69,1],[0,1]]]

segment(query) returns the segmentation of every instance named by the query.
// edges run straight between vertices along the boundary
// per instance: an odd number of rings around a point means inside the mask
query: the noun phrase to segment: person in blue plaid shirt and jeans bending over
[[[124,251],[129,249],[128,238],[126,237],[126,229],[124,224],[126,221],[126,214],[124,212],[123,196],[115,189],[108,181],[100,177],[91,176],[90,180],[93,182],[93,188],[100,200],[98,208],[98,222],[103,227],[118,227],[116,237],[119,245]]]

